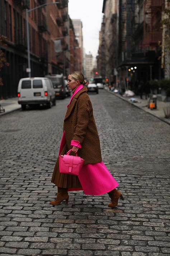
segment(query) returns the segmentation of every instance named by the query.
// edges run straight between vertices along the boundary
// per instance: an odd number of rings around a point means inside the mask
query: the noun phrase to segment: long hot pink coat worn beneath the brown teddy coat
[[[74,95],[82,89],[82,85],[77,87],[75,90],[74,94],[71,97],[74,97]],[[70,102],[71,102],[70,100]],[[70,104],[70,103],[69,103]],[[67,105],[67,107],[69,106]],[[66,137],[65,137],[65,131],[63,132],[63,136],[61,139],[61,144],[60,144],[60,151],[66,144]],[[71,145],[77,146],[77,141],[72,141]],[[79,147],[81,145],[78,142]],[[82,145],[83,147],[83,145]],[[107,167],[104,165],[103,162],[100,163],[88,163],[84,165],[80,171],[80,174],[78,176],[80,183],[81,183],[81,188],[68,188],[68,191],[74,191],[74,190],[84,190],[84,193],[86,195],[101,195],[105,194],[107,192],[110,192],[114,188],[118,187],[117,181],[113,178],[112,174],[109,172]]]

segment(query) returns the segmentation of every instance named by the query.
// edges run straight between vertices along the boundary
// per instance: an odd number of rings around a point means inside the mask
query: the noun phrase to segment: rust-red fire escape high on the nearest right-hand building
[[[162,41],[161,13],[164,0],[145,0],[143,46],[156,50],[158,42]]]

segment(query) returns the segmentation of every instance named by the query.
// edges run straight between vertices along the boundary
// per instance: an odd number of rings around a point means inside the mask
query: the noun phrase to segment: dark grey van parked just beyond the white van
[[[60,75],[46,75],[45,77],[48,77],[53,84],[53,88],[55,89],[56,98],[66,98],[66,86],[63,74]]]

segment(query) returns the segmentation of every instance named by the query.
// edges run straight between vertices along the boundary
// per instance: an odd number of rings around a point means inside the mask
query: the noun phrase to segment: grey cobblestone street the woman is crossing
[[[69,192],[52,207],[51,183],[70,98],[0,117],[0,255],[170,255],[170,126],[100,90],[89,95],[103,162],[125,200]]]

